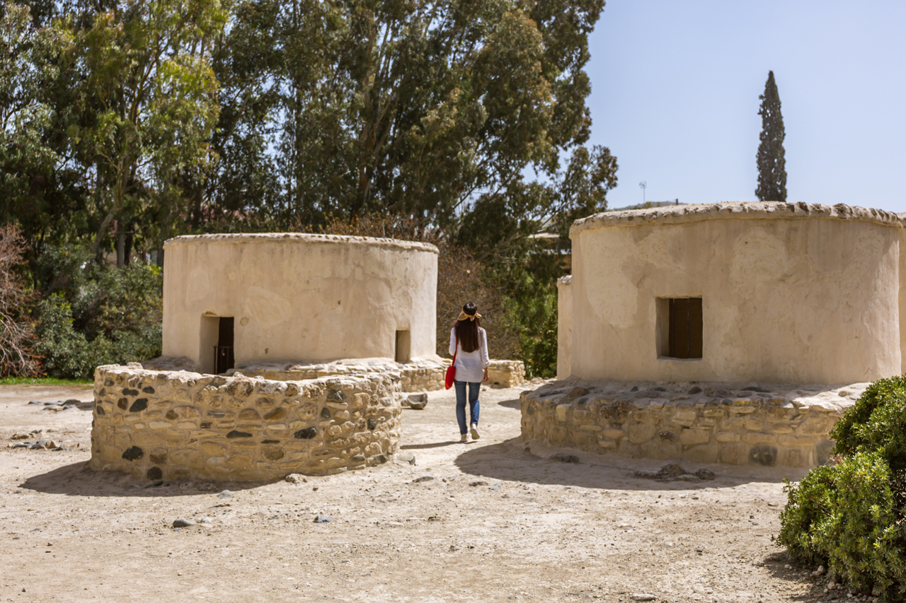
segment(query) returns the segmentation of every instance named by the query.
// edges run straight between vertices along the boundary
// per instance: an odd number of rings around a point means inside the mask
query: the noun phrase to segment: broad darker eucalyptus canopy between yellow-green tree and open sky
[[[400,214],[449,225],[556,179],[591,120],[602,0],[248,0],[218,44],[212,178],[278,220]],[[279,194],[274,194],[274,186]],[[519,205],[518,203],[516,205]]]

